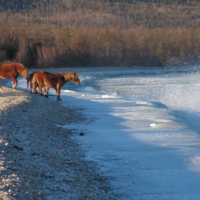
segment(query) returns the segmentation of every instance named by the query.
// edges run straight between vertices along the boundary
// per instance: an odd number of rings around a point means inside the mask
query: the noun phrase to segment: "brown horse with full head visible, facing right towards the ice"
[[[68,81],[73,81],[75,84],[80,83],[75,72],[59,72],[57,74],[52,74],[45,71],[33,72],[29,75],[27,83],[30,82],[30,91],[32,93],[36,93],[36,87],[38,87],[38,93],[40,95],[42,95],[42,87],[44,87],[45,97],[48,97],[49,95],[49,88],[54,88],[57,93],[57,101],[61,101],[61,88]]]

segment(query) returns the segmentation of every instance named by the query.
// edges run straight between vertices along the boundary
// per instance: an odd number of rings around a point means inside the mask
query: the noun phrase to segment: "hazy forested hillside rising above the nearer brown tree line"
[[[1,22],[70,28],[200,27],[197,0],[0,0]]]

